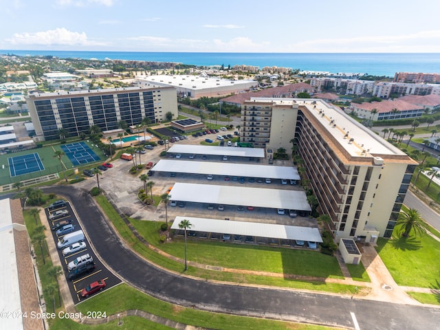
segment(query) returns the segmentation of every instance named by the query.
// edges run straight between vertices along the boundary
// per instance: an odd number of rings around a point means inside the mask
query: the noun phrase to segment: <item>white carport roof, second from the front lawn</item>
[[[176,182],[170,196],[175,201],[311,211],[305,192],[298,190]]]

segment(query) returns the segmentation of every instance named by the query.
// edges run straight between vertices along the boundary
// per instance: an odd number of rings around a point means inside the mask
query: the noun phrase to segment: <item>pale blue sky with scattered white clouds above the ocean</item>
[[[438,0],[0,0],[0,50],[440,52]]]

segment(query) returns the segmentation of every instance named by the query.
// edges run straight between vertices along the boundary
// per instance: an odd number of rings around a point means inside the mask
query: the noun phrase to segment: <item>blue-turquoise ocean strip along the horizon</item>
[[[175,62],[188,65],[253,65],[290,67],[304,71],[371,74],[393,77],[395,72],[440,73],[439,53],[189,53],[87,52],[56,50],[0,50],[0,54]]]

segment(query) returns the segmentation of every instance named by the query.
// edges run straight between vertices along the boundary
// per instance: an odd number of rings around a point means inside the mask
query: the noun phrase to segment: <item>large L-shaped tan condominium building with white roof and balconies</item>
[[[391,236],[417,166],[406,153],[322,100],[251,99],[241,115],[242,142],[289,151],[294,140],[337,239]]]

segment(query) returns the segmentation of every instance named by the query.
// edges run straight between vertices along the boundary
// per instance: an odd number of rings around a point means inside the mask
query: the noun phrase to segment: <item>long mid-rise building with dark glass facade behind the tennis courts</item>
[[[177,97],[173,87],[91,89],[31,94],[26,99],[36,139],[56,140],[58,130],[69,136],[88,133],[90,126],[102,131],[118,129],[118,122],[137,125],[143,118],[164,120],[166,113],[177,118]]]

